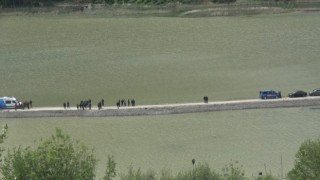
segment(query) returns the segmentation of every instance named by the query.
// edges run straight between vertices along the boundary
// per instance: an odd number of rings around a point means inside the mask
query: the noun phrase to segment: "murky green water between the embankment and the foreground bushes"
[[[33,145],[56,127],[95,149],[102,177],[107,155],[118,173],[130,165],[160,172],[191,169],[191,159],[221,169],[238,160],[246,176],[267,171],[280,174],[293,167],[294,155],[307,138],[320,137],[319,109],[288,108],[194,113],[168,116],[106,118],[0,119],[9,126],[6,147]]]

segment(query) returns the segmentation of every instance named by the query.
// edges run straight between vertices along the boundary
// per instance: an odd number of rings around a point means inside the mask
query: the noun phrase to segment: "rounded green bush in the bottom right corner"
[[[297,154],[289,179],[320,179],[320,138],[304,141]]]

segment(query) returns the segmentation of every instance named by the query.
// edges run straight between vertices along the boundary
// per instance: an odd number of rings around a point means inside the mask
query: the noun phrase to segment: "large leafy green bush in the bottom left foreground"
[[[40,140],[32,149],[21,147],[9,151],[0,171],[9,179],[94,179],[96,158],[79,141],[72,141],[60,129],[48,140]]]

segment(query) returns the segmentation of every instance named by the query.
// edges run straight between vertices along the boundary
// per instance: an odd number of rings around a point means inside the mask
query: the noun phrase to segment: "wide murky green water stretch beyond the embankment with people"
[[[320,86],[320,13],[0,17],[0,95],[36,106],[257,98]]]

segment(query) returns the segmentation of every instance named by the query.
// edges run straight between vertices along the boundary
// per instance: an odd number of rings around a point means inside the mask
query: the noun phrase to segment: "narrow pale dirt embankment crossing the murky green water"
[[[34,108],[29,110],[1,110],[0,118],[32,118],[32,117],[105,117],[105,116],[142,116],[195,113],[208,111],[226,111],[241,109],[282,108],[320,106],[320,97],[284,98],[274,100],[238,100],[209,103],[186,103],[168,105],[146,105],[136,107],[104,107],[102,110],[64,110],[62,107]]]

